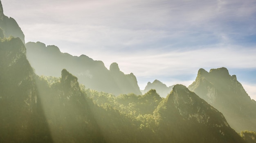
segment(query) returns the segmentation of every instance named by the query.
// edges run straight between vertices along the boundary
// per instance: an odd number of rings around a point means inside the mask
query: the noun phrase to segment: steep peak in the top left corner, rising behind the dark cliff
[[[2,2],[0,1],[0,28],[3,30],[5,37],[19,37],[23,43],[25,43],[25,36],[18,26],[17,22],[4,15]]]

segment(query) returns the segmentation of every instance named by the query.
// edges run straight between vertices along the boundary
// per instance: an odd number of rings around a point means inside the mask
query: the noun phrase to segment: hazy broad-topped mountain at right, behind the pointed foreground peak
[[[256,102],[225,67],[209,72],[199,69],[198,76],[188,88],[222,112],[237,132],[256,130]]]

